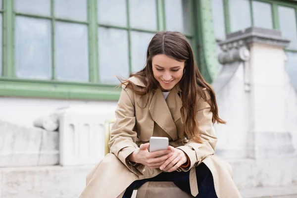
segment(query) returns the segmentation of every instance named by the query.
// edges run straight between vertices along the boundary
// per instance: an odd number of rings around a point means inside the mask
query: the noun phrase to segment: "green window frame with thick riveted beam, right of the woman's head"
[[[248,0],[251,26],[254,24],[252,1],[265,2],[271,4],[273,29],[280,30],[278,6],[286,6],[295,9],[297,19],[297,0]],[[212,15],[212,0],[199,0],[197,9],[199,10],[199,38],[200,41],[200,71],[204,78],[211,83],[220,71],[217,57],[217,42],[220,39],[215,37]],[[223,0],[225,34],[231,33],[229,0]],[[209,20],[211,19],[211,20]],[[296,20],[297,21],[297,20]],[[297,49],[285,49],[285,51],[297,52]]]

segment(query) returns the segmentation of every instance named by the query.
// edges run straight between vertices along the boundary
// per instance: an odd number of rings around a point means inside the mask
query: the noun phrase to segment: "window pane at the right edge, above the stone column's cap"
[[[286,39],[291,40],[288,48],[297,49],[297,27],[295,10],[294,8],[279,6],[278,11],[282,36]]]

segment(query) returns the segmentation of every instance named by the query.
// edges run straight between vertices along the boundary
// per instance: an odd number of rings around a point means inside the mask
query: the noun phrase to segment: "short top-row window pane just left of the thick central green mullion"
[[[72,20],[87,20],[87,0],[55,0],[55,16]]]

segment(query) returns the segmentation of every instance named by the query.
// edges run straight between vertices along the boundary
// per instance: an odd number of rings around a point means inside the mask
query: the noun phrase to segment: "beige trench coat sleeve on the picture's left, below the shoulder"
[[[116,120],[111,128],[108,146],[111,153],[115,154],[132,172],[139,175],[140,172],[132,168],[126,161],[128,155],[138,148],[136,144],[137,133],[134,131],[136,123],[134,93],[125,86],[122,88],[115,110]]]

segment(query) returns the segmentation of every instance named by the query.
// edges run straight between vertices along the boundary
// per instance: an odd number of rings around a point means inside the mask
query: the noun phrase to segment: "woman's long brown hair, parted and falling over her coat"
[[[205,82],[198,70],[194,59],[193,49],[187,38],[180,32],[158,32],[151,39],[147,50],[147,63],[144,69],[131,74],[142,81],[146,87],[139,87],[129,80],[123,83],[136,94],[144,96],[149,95],[153,90],[158,88],[158,81],[154,78],[152,72],[152,57],[157,54],[165,54],[178,61],[185,62],[185,74],[179,82],[180,88],[183,90],[181,99],[183,105],[181,107],[181,116],[184,122],[184,130],[189,139],[201,143],[200,136],[197,136],[198,122],[196,119],[197,106],[200,99],[207,101],[212,112],[212,123],[226,123],[218,116],[218,107],[215,99],[215,93],[211,86]],[[210,99],[206,99],[206,90],[210,94]]]

